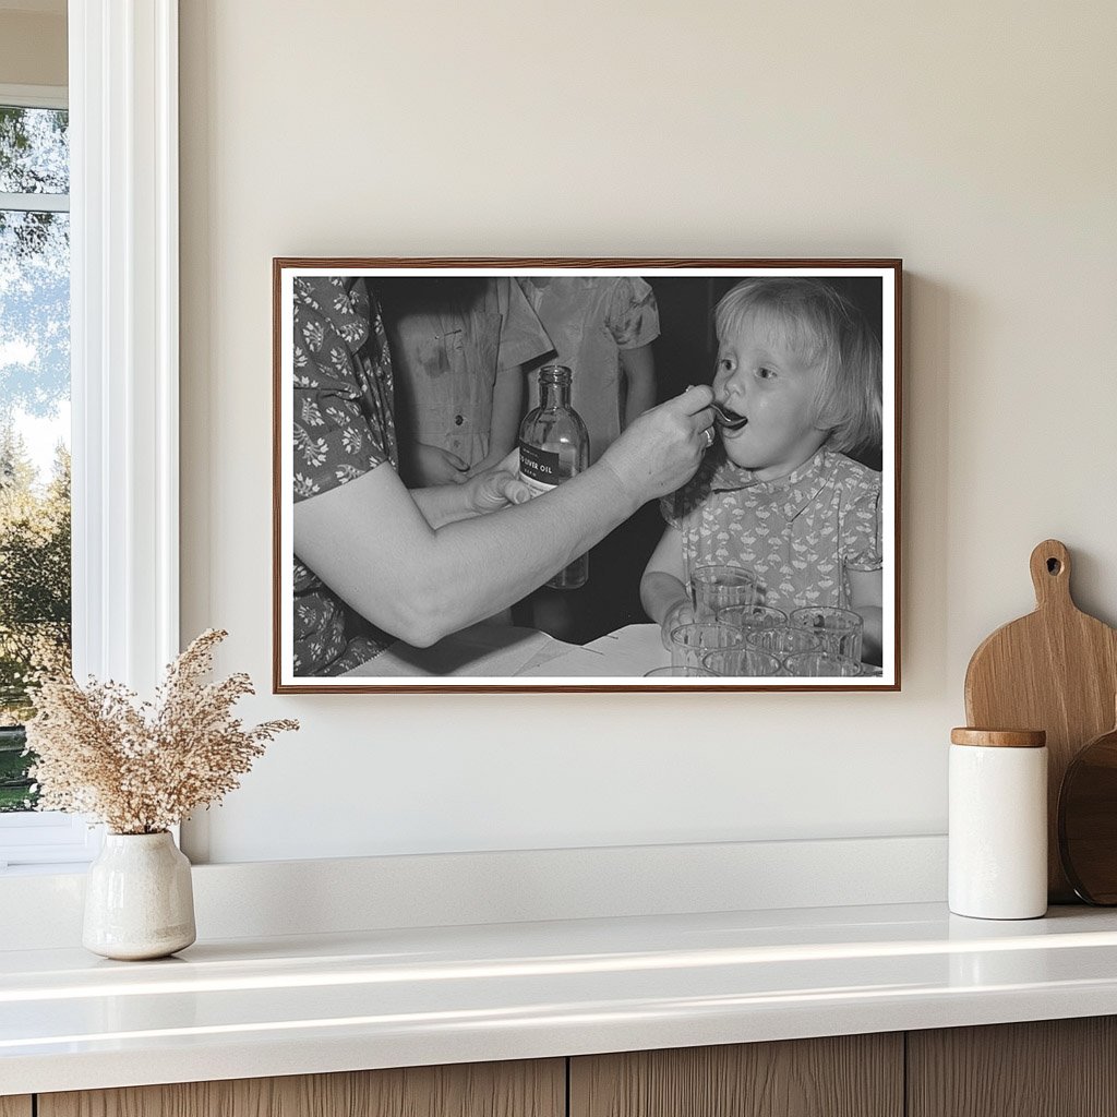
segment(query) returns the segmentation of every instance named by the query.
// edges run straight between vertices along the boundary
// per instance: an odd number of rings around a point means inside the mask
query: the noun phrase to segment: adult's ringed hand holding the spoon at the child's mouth
[[[713,400],[713,390],[699,384],[646,411],[605,450],[601,464],[638,504],[674,493],[694,477],[710,446]]]

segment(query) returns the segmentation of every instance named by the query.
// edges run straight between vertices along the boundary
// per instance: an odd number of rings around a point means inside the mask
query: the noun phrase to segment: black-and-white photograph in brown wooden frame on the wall
[[[276,259],[276,693],[899,689],[900,293]]]

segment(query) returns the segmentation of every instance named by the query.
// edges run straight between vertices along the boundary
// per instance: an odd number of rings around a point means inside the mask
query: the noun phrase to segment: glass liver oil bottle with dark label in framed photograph
[[[540,369],[540,405],[519,427],[519,476],[536,493],[546,493],[589,468],[590,432],[570,405],[571,371],[562,364]],[[547,585],[576,590],[590,576],[589,554],[579,555]]]

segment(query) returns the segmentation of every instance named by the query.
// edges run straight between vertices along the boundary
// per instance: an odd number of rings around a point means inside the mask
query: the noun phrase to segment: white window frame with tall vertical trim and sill
[[[178,0],[69,0],[68,38],[74,671],[150,694],[179,650]],[[0,815],[0,870],[99,844]]]

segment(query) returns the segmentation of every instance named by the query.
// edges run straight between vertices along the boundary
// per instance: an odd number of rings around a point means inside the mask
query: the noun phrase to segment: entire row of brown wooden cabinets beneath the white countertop
[[[567,1077],[569,1075],[569,1077]],[[569,1099],[569,1109],[567,1109]],[[1101,1117],[1117,1018],[0,1098],[0,1117]]]

